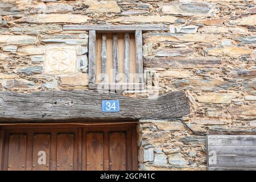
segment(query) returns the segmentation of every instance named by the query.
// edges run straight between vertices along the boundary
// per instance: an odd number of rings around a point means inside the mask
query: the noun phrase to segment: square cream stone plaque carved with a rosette
[[[47,74],[73,74],[76,71],[76,48],[72,46],[46,49],[44,72]]]

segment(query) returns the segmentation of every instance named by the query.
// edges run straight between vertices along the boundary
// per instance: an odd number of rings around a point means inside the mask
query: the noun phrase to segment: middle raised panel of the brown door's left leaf
[[[33,171],[49,171],[50,134],[34,134]]]

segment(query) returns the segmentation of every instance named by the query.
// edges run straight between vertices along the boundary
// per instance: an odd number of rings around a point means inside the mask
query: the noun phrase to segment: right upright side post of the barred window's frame
[[[137,82],[144,82],[143,76],[143,52],[142,52],[142,31],[135,31]]]

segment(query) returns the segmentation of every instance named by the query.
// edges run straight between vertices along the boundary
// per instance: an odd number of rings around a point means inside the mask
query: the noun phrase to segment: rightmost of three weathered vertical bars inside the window
[[[123,72],[125,73],[125,82],[129,82],[129,73],[130,73],[130,35],[129,33],[125,34],[125,53],[123,61]]]

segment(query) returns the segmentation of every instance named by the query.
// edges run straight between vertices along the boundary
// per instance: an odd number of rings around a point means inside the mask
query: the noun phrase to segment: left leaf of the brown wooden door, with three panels
[[[22,131],[22,133],[19,133]],[[5,133],[3,169],[77,169],[77,129],[14,129]]]

